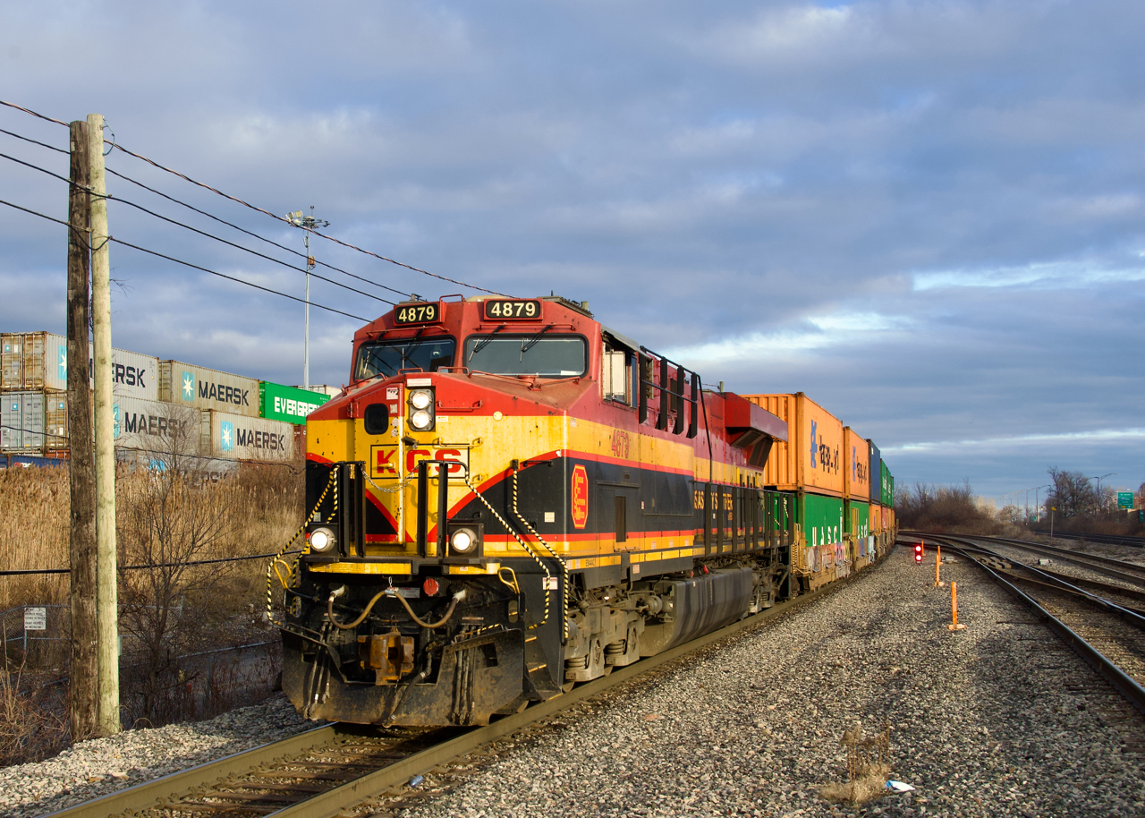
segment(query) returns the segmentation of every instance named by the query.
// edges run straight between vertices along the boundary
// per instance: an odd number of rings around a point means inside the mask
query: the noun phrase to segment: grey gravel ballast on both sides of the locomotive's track
[[[932,552],[927,552],[932,558]],[[425,777],[404,818],[1145,816],[1145,719],[977,568],[905,548],[856,581]],[[861,808],[839,739],[890,724],[891,778]],[[0,770],[0,815],[39,816],[315,726],[279,695],[211,722],[81,742]],[[459,762],[466,765],[474,760]],[[92,782],[90,779],[98,779]],[[436,793],[436,794],[435,794]],[[373,810],[362,810],[370,815]]]

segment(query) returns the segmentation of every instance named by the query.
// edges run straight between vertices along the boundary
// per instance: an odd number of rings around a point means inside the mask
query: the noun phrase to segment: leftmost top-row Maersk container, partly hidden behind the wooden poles
[[[68,339],[54,332],[6,332],[0,336],[3,380],[8,390],[68,390]],[[87,361],[88,388],[94,362]],[[127,349],[111,351],[111,390],[116,398],[153,401],[159,396],[159,359]]]

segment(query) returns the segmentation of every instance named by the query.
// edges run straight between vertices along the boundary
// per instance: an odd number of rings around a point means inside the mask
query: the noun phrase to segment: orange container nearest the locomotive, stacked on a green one
[[[787,442],[776,441],[764,466],[764,483],[781,491],[843,495],[843,424],[802,392],[743,395],[788,424]]]

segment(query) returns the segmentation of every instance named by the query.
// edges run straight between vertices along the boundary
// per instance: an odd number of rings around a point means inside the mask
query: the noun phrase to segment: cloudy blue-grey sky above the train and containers
[[[705,383],[806,392],[900,487],[1145,481],[1145,5],[0,0],[0,99],[102,113],[116,144],[270,213],[314,206],[378,255],[586,300]],[[11,108],[0,128],[68,147]],[[8,134],[0,154],[68,174]],[[123,151],[106,164],[302,250]],[[108,189],[117,239],[303,296],[297,255]],[[0,199],[66,217],[65,183],[9,158]],[[477,292],[311,252],[402,293]],[[64,332],[65,259],[62,226],[0,205],[0,330]],[[111,265],[114,346],[301,383],[299,302],[121,244]],[[390,308],[317,280],[311,300]],[[348,379],[362,323],[311,308],[311,383]]]

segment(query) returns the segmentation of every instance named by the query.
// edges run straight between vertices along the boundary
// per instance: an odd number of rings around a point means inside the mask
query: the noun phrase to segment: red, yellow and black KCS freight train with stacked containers
[[[404,302],[352,365],[307,420],[306,546],[274,564],[309,718],[484,724],[893,543],[870,441],[803,393],[706,388],[584,302]]]

